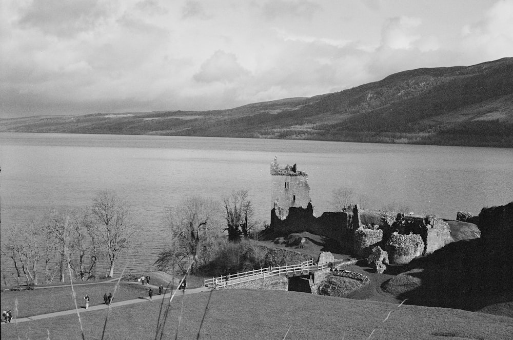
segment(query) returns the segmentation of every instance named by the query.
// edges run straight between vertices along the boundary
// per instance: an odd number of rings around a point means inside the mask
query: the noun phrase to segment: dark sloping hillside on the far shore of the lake
[[[0,131],[513,147],[513,58],[227,110],[0,119]]]

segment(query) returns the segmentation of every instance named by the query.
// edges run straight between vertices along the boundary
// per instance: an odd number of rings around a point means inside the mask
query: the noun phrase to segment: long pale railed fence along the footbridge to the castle
[[[289,265],[280,267],[267,267],[246,271],[243,273],[229,274],[226,276],[212,277],[205,279],[205,286],[220,288],[233,286],[245,282],[255,281],[261,278],[267,278],[278,275],[305,275],[322,269],[327,269],[328,264],[314,265],[313,261],[305,261],[299,265]]]

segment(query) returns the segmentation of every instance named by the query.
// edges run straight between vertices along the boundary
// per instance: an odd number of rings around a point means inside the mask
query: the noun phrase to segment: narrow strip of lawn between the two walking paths
[[[84,307],[83,297],[89,295],[89,306],[103,304],[103,295],[114,292],[115,283],[74,286],[76,303]],[[147,286],[121,283],[114,294],[114,301],[148,296]],[[1,293],[2,310],[10,309],[15,315],[15,299],[18,301],[18,317],[46,314],[75,308],[71,287],[45,288],[24,291],[4,291]]]

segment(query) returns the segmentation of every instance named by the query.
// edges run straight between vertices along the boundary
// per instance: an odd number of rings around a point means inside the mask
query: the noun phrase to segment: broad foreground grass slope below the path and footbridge
[[[287,291],[230,289],[186,295],[180,339],[510,339],[513,319],[455,309],[386,304]],[[182,297],[173,301],[163,338],[174,338]],[[115,307],[108,339],[152,339],[160,302]],[[207,308],[208,307],[208,308]],[[383,319],[391,311],[385,323]],[[99,339],[108,310],[81,313],[86,339]],[[47,333],[48,332],[48,333]],[[76,315],[21,323],[22,339],[80,339]],[[14,324],[2,338],[17,338]]]

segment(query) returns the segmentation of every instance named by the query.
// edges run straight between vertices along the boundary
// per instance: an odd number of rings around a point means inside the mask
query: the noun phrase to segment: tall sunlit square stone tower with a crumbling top
[[[280,219],[285,219],[290,207],[306,208],[310,203],[310,186],[308,175],[298,171],[296,165],[280,168],[277,158],[271,162],[272,199],[274,212]]]

